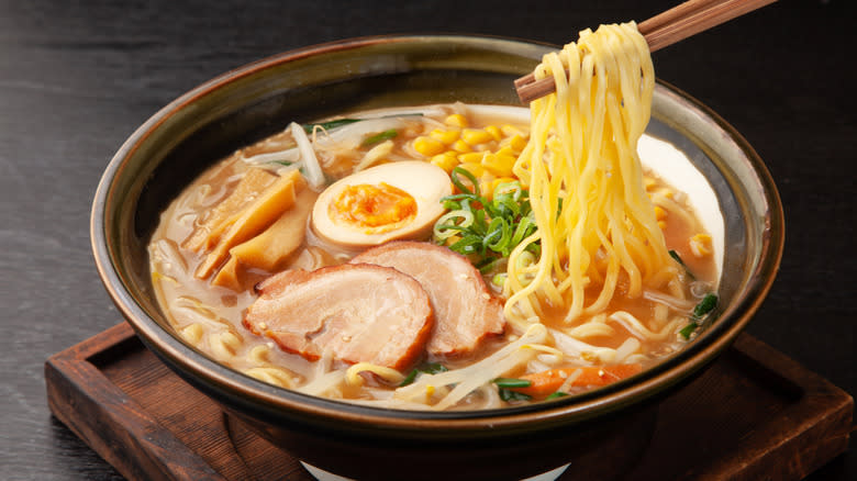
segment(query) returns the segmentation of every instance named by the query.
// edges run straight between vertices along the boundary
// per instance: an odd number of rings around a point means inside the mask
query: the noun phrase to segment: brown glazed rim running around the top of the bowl
[[[439,40],[477,44],[510,43],[524,47],[536,47],[536,49],[557,48],[549,44],[525,40],[468,34],[376,35],[305,46],[252,61],[202,82],[158,110],[127,137],[104,169],[96,190],[90,217],[90,239],[102,283],[122,315],[149,349],[174,369],[178,368],[177,370],[182,376],[190,376],[194,378],[194,381],[203,382],[215,391],[238,395],[256,409],[269,413],[288,413],[304,420],[325,420],[325,422],[359,426],[378,427],[382,425],[394,430],[419,432],[426,428],[441,428],[455,433],[477,433],[485,429],[486,426],[494,429],[521,426],[533,428],[546,424],[578,423],[620,411],[678,384],[706,366],[735,340],[763,303],[779,268],[784,244],[783,214],[779,193],[761,158],[732,125],[697,99],[660,79],[658,79],[658,85],[666,91],[666,94],[688,103],[689,107],[709,118],[716,127],[727,134],[744,150],[746,161],[756,172],[768,204],[765,219],[767,235],[763,239],[764,245],[756,272],[752,275],[759,281],[750,282],[749,291],[741,301],[730,310],[722,312],[720,321],[706,329],[705,338],[708,342],[697,342],[687,346],[679,354],[647,369],[628,382],[617,382],[606,388],[552,403],[534,403],[500,410],[424,412],[365,406],[277,388],[232,370],[188,347],[176,335],[162,327],[137,304],[127,287],[121,281],[112,260],[111,248],[107,243],[105,235],[105,205],[113,180],[123,170],[124,160],[132,157],[140,144],[167,119],[212,91],[281,64],[381,43],[426,43]],[[534,59],[535,61],[537,59]],[[773,232],[772,235],[771,232]],[[724,320],[730,322],[723,322]]]

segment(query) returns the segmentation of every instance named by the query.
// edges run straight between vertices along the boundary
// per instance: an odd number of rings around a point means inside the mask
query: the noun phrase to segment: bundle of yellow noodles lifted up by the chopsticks
[[[602,312],[622,278],[637,298],[677,276],[637,156],[655,74],[636,24],[583,31],[535,75],[557,88],[531,103],[530,142],[514,166],[538,227],[509,260],[505,314],[519,326],[546,305],[564,307],[569,322]],[[523,269],[517,259],[535,242],[541,256]],[[600,291],[587,301],[590,283]]]

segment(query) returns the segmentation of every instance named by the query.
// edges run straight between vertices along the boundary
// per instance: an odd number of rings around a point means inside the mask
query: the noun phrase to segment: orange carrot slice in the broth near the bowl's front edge
[[[522,376],[521,379],[530,381],[526,388],[510,388],[511,391],[517,391],[533,398],[542,398],[556,392],[569,376],[577,370],[580,374],[571,382],[571,385],[606,385],[611,382],[625,379],[643,370],[639,363],[615,365],[615,366],[585,366],[578,368],[558,368],[547,371],[535,372],[533,374]]]

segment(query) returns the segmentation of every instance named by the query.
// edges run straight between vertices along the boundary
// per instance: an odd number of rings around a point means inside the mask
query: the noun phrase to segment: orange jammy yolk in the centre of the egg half
[[[331,219],[340,224],[387,232],[416,216],[416,201],[408,192],[381,182],[347,186],[330,204]]]

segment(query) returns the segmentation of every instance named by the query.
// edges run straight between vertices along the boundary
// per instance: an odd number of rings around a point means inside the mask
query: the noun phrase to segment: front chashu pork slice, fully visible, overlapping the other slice
[[[404,369],[425,349],[434,315],[420,283],[396,269],[342,265],[260,282],[244,325],[283,350]]]

